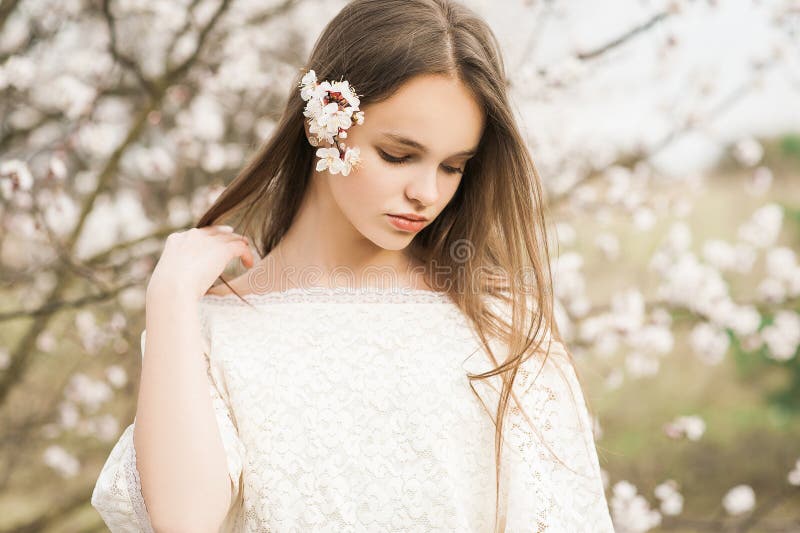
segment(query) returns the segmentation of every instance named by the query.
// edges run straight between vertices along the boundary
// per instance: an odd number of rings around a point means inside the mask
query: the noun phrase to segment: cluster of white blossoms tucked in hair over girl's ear
[[[309,143],[318,146],[321,142],[332,144],[331,148],[319,148],[316,152],[317,172],[326,168],[331,174],[343,176],[361,162],[361,152],[350,148],[340,139],[347,138],[347,130],[364,123],[364,112],[358,109],[361,101],[347,80],[318,83],[317,74],[309,70],[300,81],[300,97],[308,102],[303,115],[309,117]]]

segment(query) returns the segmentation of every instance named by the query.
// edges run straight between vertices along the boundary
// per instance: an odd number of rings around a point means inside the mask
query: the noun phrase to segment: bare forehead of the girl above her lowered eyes
[[[362,109],[359,127],[365,132],[411,137],[440,155],[474,148],[483,130],[484,113],[475,96],[459,80],[444,76],[412,78],[388,99]]]

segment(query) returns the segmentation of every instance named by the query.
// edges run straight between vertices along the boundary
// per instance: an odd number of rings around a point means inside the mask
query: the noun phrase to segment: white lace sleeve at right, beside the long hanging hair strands
[[[509,396],[500,464],[504,531],[613,533],[592,422],[575,370],[554,339],[544,364],[543,359],[537,354],[523,362],[514,380],[516,400]],[[492,368],[470,365],[465,368],[472,372]],[[494,420],[499,376],[473,383]]]

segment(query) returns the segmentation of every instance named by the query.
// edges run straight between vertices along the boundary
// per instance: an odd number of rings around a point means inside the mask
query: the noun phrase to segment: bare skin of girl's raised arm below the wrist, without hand
[[[133,439],[157,531],[218,531],[232,481],[209,395],[198,303],[148,291]]]

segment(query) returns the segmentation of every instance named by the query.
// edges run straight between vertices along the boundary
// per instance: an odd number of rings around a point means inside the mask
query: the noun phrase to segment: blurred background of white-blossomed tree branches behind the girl
[[[617,530],[800,531],[800,2],[464,3],[547,192]],[[0,532],[106,530],[164,238],[343,5],[0,2]]]

